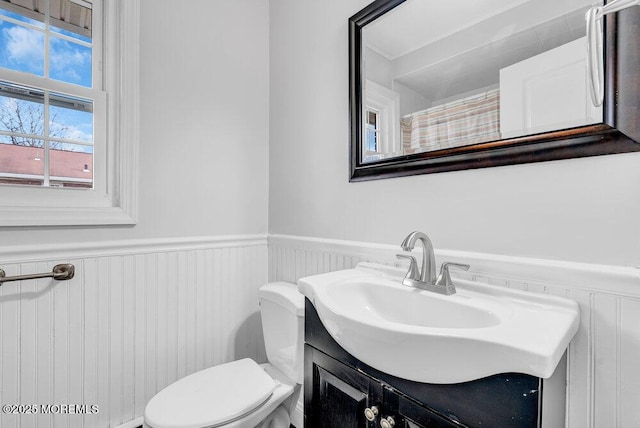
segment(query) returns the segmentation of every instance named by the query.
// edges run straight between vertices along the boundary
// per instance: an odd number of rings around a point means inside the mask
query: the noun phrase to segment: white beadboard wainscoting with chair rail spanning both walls
[[[170,382],[243,356],[264,361],[267,280],[396,264],[399,247],[274,235],[0,249],[7,275],[71,262],[76,277],[0,287],[0,404],[97,404],[87,415],[0,414],[2,428],[114,427]],[[567,427],[640,427],[638,269],[438,251],[466,278],[576,300]],[[267,275],[268,270],[268,275]],[[458,275],[461,275],[458,273]]]

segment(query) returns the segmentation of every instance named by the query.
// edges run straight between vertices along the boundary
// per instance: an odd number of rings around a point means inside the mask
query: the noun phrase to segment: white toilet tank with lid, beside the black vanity
[[[290,282],[260,287],[260,314],[267,359],[289,379],[302,384],[304,296]]]

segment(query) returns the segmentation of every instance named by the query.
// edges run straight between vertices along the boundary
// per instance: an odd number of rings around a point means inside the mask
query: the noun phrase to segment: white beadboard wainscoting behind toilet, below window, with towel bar
[[[99,408],[2,413],[0,426],[114,427],[189,373],[264,361],[257,289],[267,261],[264,235],[0,249],[7,275],[76,267],[70,281],[0,287],[0,404]]]

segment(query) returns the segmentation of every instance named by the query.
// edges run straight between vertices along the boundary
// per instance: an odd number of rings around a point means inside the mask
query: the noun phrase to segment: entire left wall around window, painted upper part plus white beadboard
[[[138,224],[0,228],[7,275],[76,267],[0,287],[0,403],[100,412],[3,428],[115,427],[195,370],[264,361],[268,25],[268,0],[141,0]]]

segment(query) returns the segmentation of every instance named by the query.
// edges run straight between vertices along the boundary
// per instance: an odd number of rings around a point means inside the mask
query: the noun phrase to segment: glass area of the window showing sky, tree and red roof
[[[90,1],[0,0],[0,67],[90,88],[91,26]],[[48,82],[0,81],[0,184],[93,188],[93,100]]]

